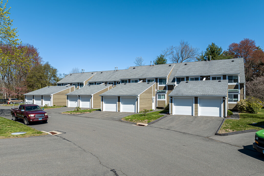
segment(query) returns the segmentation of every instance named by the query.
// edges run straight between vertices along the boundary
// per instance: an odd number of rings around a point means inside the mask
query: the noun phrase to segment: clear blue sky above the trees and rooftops
[[[68,73],[125,69],[137,56],[150,64],[181,39],[226,50],[243,38],[264,48],[264,1],[10,0],[19,39]]]

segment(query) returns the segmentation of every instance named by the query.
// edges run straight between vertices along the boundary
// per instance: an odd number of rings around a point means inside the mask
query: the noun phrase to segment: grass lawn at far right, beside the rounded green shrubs
[[[222,125],[219,133],[227,133],[242,130],[262,130],[258,127],[264,125],[264,109],[262,108],[257,114],[239,113],[239,120],[226,119]],[[256,123],[253,125],[252,123]]]

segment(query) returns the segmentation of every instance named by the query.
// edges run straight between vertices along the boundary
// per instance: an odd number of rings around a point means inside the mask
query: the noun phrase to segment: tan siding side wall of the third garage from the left
[[[152,109],[152,87],[153,85],[139,95],[139,111]]]

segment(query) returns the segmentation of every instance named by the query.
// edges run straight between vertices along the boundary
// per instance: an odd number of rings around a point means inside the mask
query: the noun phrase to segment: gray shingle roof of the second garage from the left
[[[67,93],[66,95],[92,95],[98,91],[101,91],[112,84],[102,84],[102,85],[86,85],[83,88],[77,89],[76,91]]]

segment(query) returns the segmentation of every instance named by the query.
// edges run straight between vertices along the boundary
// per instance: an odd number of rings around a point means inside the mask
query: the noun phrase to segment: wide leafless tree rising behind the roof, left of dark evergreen
[[[162,54],[172,63],[194,61],[200,54],[199,48],[192,47],[188,41],[181,40],[180,45],[170,46],[162,51]]]

